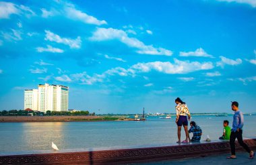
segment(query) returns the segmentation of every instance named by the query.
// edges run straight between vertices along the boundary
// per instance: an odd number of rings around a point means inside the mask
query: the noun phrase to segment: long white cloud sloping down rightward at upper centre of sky
[[[117,30],[113,28],[100,28],[94,32],[90,38],[93,41],[104,40],[119,40],[131,48],[137,48],[139,54],[152,54],[152,55],[165,55],[171,56],[172,51],[164,48],[154,48],[152,45],[146,46],[143,42],[137,40],[137,38],[129,38],[127,33],[123,30]]]

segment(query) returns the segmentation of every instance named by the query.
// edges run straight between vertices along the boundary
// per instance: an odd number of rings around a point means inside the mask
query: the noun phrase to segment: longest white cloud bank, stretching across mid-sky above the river
[[[179,61],[174,60],[174,64],[170,62],[148,62],[148,63],[137,63],[133,66],[125,69],[121,67],[112,68],[106,70],[102,74],[94,74],[90,76],[87,72],[71,74],[70,76],[74,81],[78,81],[84,85],[93,85],[94,83],[103,83],[110,81],[110,76],[131,76],[135,77],[137,73],[150,72],[156,70],[165,74],[183,74],[187,72],[195,72],[197,70],[208,70],[213,68],[212,62],[189,62],[189,61]],[[143,76],[146,80],[148,77]],[[183,80],[192,80],[192,78],[183,78]],[[170,89],[167,89],[170,90]]]

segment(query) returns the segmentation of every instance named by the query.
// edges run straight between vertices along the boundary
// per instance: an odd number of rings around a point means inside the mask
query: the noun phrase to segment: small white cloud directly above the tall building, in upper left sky
[[[78,49],[81,47],[82,41],[79,36],[75,40],[73,40],[70,38],[61,38],[59,35],[54,34],[49,30],[44,30],[44,32],[46,33],[44,40],[65,44],[68,45],[70,48]]]

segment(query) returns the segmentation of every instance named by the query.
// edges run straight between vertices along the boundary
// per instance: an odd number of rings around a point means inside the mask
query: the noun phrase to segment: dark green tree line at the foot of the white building
[[[95,115],[95,113],[89,113],[89,111],[46,111],[40,112],[40,111],[26,111],[26,110],[10,110],[10,111],[0,111],[0,116],[28,116],[28,115],[34,115],[34,116],[79,116],[79,115]]]

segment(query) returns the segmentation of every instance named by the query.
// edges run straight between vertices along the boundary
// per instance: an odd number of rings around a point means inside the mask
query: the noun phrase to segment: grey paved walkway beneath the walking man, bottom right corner
[[[234,160],[227,160],[226,157],[229,156],[229,154],[223,154],[218,156],[206,156],[204,158],[188,158],[183,160],[167,160],[167,161],[161,161],[161,162],[150,162],[150,163],[139,163],[140,165],[160,165],[160,164],[181,164],[181,165],[191,165],[191,164],[197,164],[197,165],[203,165],[203,164],[215,164],[215,165],[227,165],[227,164],[256,164],[256,158],[253,160],[248,159],[249,154],[247,152],[239,152],[236,153],[236,159]]]

